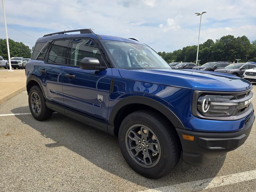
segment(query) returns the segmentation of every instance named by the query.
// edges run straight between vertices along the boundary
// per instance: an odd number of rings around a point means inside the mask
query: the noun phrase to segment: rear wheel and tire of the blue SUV
[[[52,111],[47,108],[44,95],[38,85],[30,89],[28,105],[32,116],[38,121],[47,120],[52,116]]]

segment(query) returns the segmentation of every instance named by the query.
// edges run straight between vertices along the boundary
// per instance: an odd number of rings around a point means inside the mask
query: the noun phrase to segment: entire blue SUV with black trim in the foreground
[[[70,34],[80,32],[80,34]],[[118,136],[139,174],[207,166],[241,146],[254,122],[252,84],[230,74],[172,68],[136,39],[90,29],[44,35],[26,65],[36,120],[58,112]]]

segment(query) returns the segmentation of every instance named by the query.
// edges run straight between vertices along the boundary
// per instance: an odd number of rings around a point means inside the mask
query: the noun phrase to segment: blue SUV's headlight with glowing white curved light
[[[197,100],[198,112],[206,117],[233,116],[241,106],[243,103],[231,95],[202,95]]]

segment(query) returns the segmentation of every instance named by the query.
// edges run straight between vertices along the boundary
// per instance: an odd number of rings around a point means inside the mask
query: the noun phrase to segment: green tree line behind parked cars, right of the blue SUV
[[[186,46],[173,52],[158,52],[166,62],[196,62],[197,46]],[[235,38],[232,35],[223,36],[214,42],[208,39],[199,45],[198,60],[200,64],[210,61],[256,62],[256,40],[250,42],[246,36]]]

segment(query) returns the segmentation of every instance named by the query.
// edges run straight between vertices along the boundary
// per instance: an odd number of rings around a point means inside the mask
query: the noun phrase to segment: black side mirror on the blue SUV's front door
[[[105,70],[106,67],[100,66],[100,61],[93,57],[85,57],[80,61],[80,68],[86,70]]]

